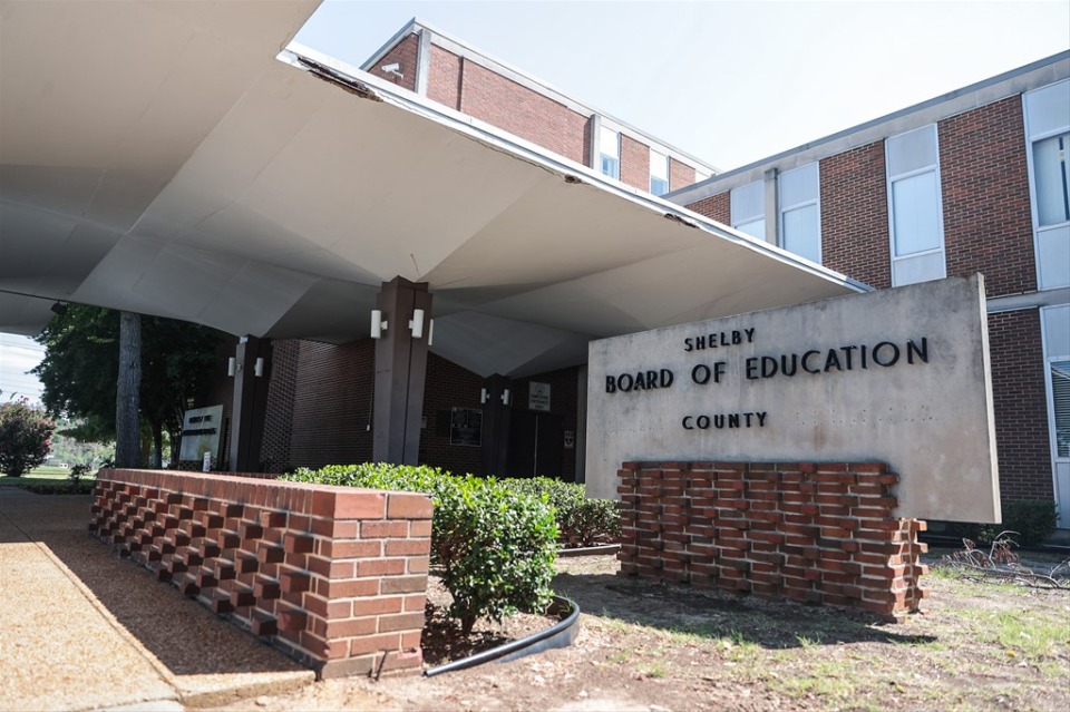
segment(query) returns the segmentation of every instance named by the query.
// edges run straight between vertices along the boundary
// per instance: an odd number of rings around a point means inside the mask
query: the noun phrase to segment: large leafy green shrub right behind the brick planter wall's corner
[[[500,480],[386,464],[300,469],[281,479],[427,492],[435,504],[431,560],[465,634],[479,617],[542,613],[553,596],[557,526],[547,498]]]

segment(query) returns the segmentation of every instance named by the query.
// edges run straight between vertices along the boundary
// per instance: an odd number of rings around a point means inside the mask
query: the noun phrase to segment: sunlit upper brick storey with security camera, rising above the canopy
[[[639,191],[662,195],[717,173],[415,18],[360,68]]]

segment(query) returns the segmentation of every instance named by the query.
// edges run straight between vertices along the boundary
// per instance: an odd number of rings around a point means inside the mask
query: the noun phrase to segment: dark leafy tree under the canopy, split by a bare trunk
[[[160,316],[143,315],[139,321],[140,421],[154,443],[152,465],[159,467],[164,432],[172,461],[178,460],[183,413],[206,394],[222,333]],[[48,412],[79,419],[72,437],[115,439],[119,332],[119,312],[68,304],[37,338],[46,347],[45,359],[33,369],[45,386],[41,400]]]

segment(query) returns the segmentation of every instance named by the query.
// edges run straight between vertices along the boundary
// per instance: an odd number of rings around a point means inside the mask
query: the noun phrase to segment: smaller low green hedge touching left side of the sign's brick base
[[[612,499],[588,499],[584,487],[551,477],[504,479],[509,487],[532,495],[545,495],[554,507],[561,540],[566,545],[612,544],[621,536],[620,515]]]

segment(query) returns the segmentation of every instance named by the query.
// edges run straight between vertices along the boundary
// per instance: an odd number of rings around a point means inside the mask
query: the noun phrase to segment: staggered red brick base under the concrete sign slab
[[[767,598],[916,611],[925,523],[885,465],[624,462],[621,574]]]

